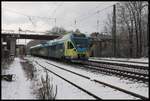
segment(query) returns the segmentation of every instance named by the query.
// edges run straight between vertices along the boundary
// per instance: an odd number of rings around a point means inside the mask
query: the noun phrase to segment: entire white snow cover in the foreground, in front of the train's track
[[[124,78],[120,79],[116,76],[109,76],[109,75],[104,75],[102,73],[98,73],[98,72],[91,72],[88,69],[85,68],[76,68],[74,66],[70,66],[67,64],[62,64],[59,62],[55,62],[55,61],[50,61],[50,60],[45,60],[45,59],[41,59],[41,58],[37,58],[37,57],[26,57],[26,59],[30,60],[33,62],[33,65],[36,67],[37,69],[37,75],[38,78],[40,79],[42,75],[45,74],[45,70],[43,68],[41,68],[40,66],[38,66],[34,60],[38,60],[40,61],[41,65],[47,65],[48,67],[51,67],[52,70],[55,70],[54,66],[50,66],[48,64],[45,64],[44,61],[48,61],[50,63],[54,63],[58,66],[63,66],[63,68],[75,71],[77,73],[89,76],[92,79],[97,79],[97,80],[101,80],[107,83],[110,83],[112,85],[116,85],[118,87],[121,87],[123,89],[127,89],[130,90],[132,92],[141,94],[143,96],[149,97],[149,86],[144,84],[144,83],[137,83],[134,81],[129,81],[129,80],[125,80]],[[19,58],[15,58],[14,62],[9,66],[9,69],[7,71],[5,71],[7,74],[15,74],[16,77],[14,81],[12,82],[7,82],[2,80],[2,99],[36,99],[36,96],[33,94],[33,89],[32,89],[32,82],[29,81],[27,79],[27,77],[25,76],[25,72],[22,69],[22,66],[20,64],[20,60]],[[69,73],[66,72],[62,72],[57,70],[56,72],[59,72],[59,74],[66,76],[67,78],[70,78],[70,80],[73,80],[74,82],[83,82],[81,84],[82,87],[85,88],[89,88],[91,86],[95,86],[96,83],[89,83],[88,80],[82,80],[81,78],[78,79],[74,79],[73,77],[69,77],[68,75],[70,75]],[[67,83],[66,81],[60,79],[59,77],[53,75],[52,73],[49,73],[50,78],[53,81],[53,87],[55,88],[55,86],[57,85],[57,96],[56,99],[94,99],[93,97],[87,95],[86,93],[80,91],[78,88],[72,86],[71,84]],[[79,84],[78,83],[78,84]],[[97,88],[100,88],[100,86],[97,86]],[[102,87],[101,87],[102,88]],[[103,87],[104,88],[104,87]],[[105,88],[106,89],[106,88]],[[125,94],[121,94],[119,92],[107,92],[105,89],[95,89],[94,93],[101,93],[102,97],[108,99],[108,98],[116,98],[119,97],[120,99],[131,99],[130,96],[125,95]],[[54,89],[55,90],[55,89]],[[118,93],[118,96],[114,96]]]

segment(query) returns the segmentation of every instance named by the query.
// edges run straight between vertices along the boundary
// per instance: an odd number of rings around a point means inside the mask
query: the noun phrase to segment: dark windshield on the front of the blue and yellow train
[[[75,44],[79,48],[86,48],[88,46],[88,40],[87,39],[78,39],[74,38]]]

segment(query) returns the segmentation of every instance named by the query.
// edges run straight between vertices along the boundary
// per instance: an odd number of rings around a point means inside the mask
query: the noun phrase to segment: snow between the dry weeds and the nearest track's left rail
[[[45,75],[45,70],[41,66],[37,65],[35,62],[33,62],[33,65],[37,70],[37,78]],[[52,81],[51,83],[53,84],[54,91],[57,86],[56,99],[94,99],[54,74],[50,72],[48,72],[48,74],[50,76],[50,80]]]

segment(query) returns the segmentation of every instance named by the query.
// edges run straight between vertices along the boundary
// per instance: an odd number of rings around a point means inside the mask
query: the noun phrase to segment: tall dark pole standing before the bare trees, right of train
[[[112,18],[112,39],[113,39],[113,56],[117,56],[116,50],[116,5],[113,5],[113,18]]]

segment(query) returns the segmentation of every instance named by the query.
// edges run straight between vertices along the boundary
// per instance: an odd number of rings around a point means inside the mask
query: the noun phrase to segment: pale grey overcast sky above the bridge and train
[[[56,18],[56,26],[66,30],[78,28],[88,34],[97,31],[99,20],[99,32],[102,32],[106,15],[112,12],[115,3],[2,2],[2,29],[18,30],[20,27],[23,30],[46,31],[55,26]]]

